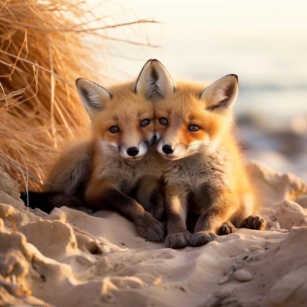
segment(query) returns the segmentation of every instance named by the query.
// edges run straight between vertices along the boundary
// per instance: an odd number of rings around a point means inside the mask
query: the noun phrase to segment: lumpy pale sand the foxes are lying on
[[[1,306],[307,306],[306,184],[250,167],[266,229],[182,250],[137,236],[114,212],[28,209],[0,171]]]

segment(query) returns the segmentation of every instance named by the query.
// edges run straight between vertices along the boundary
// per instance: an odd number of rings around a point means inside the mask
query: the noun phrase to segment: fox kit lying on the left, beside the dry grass
[[[114,209],[134,223],[139,235],[152,241],[164,240],[158,221],[164,199],[157,167],[163,158],[151,146],[153,103],[167,92],[167,80],[156,73],[160,66],[149,60],[136,82],[108,90],[77,79],[78,94],[92,123],[92,140],[77,143],[62,155],[48,179],[53,185],[45,188],[48,193],[77,196],[96,210]]]

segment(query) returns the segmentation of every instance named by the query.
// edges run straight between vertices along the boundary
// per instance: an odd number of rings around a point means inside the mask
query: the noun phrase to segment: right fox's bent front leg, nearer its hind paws
[[[218,191],[214,203],[198,219],[190,246],[202,246],[217,238],[216,233],[230,233],[234,226],[229,221],[239,206],[238,198],[230,191]]]

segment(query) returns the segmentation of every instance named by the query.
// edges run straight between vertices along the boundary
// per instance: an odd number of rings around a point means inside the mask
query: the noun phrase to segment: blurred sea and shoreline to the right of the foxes
[[[307,181],[307,90],[240,88],[239,140],[257,159]]]

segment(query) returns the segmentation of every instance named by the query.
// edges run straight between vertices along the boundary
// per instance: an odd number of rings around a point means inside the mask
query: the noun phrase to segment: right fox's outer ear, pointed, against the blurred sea
[[[229,114],[238,95],[238,77],[227,75],[208,86],[200,99],[208,110]]]

